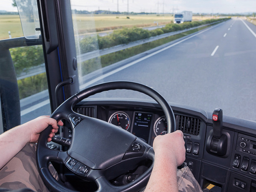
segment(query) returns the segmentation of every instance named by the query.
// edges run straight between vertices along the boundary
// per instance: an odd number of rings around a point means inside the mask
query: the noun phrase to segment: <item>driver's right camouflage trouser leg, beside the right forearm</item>
[[[179,192],[203,192],[189,167],[177,171]]]

